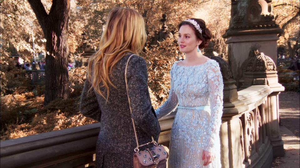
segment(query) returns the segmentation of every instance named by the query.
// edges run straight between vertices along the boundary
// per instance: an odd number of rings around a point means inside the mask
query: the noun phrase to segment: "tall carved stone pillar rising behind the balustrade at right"
[[[276,62],[278,34],[283,32],[275,23],[270,0],[232,0],[229,28],[223,35],[228,44],[228,63],[233,79],[242,77],[242,63],[252,50],[260,50]]]

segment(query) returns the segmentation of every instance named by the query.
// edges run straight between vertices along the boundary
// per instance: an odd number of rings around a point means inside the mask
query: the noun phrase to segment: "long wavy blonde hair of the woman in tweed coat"
[[[99,50],[88,61],[87,80],[92,84],[89,90],[93,88],[108,101],[109,86],[115,87],[109,79],[113,66],[128,52],[139,54],[146,39],[145,23],[138,12],[124,7],[113,8],[100,38]],[[106,96],[100,87],[105,87]]]

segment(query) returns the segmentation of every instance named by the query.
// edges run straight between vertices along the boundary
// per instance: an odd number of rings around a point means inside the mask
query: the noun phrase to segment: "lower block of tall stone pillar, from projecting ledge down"
[[[242,78],[242,64],[247,60],[252,50],[259,50],[268,55],[274,62],[277,60],[277,34],[280,29],[265,30],[244,30],[232,32],[227,36],[225,43],[228,44],[228,63],[232,67],[232,76],[235,81]],[[272,33],[272,34],[260,34]],[[237,87],[241,84],[237,82]]]

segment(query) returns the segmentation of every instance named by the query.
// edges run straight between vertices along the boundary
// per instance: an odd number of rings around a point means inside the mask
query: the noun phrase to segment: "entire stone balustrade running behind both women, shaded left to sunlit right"
[[[243,110],[224,108],[220,128],[224,168],[270,167],[283,153],[277,100],[282,88],[250,86],[238,91]],[[228,110],[229,109],[229,110]],[[176,112],[159,120],[159,143],[168,146]],[[100,124],[89,124],[2,141],[1,167],[94,167]]]

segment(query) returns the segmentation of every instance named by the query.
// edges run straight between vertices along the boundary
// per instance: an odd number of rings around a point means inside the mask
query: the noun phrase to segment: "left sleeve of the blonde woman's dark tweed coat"
[[[85,80],[83,91],[80,97],[80,112],[86,116],[90,117],[94,120],[100,122],[101,119],[101,109],[98,104],[98,100],[95,94],[95,91],[92,89],[88,91],[91,86],[91,83],[88,81],[88,78]]]

